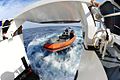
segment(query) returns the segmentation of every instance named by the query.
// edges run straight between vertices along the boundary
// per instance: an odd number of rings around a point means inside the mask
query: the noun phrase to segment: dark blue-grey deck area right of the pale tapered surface
[[[99,51],[96,51],[100,58]],[[114,45],[108,47],[104,59],[100,59],[106,71],[108,80],[120,80],[120,57],[119,49]]]

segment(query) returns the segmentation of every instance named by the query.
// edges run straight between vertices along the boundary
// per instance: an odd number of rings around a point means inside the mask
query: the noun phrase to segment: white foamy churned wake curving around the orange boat
[[[71,47],[60,52],[51,53],[43,48],[45,42],[56,34],[38,35],[29,43],[27,56],[32,68],[42,80],[74,80],[80,63],[82,37],[80,28],[75,30],[77,39]]]

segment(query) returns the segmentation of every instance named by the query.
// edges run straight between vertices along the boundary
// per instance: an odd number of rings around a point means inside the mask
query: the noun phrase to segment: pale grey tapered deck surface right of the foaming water
[[[108,80],[104,68],[94,51],[84,50],[77,80]]]

